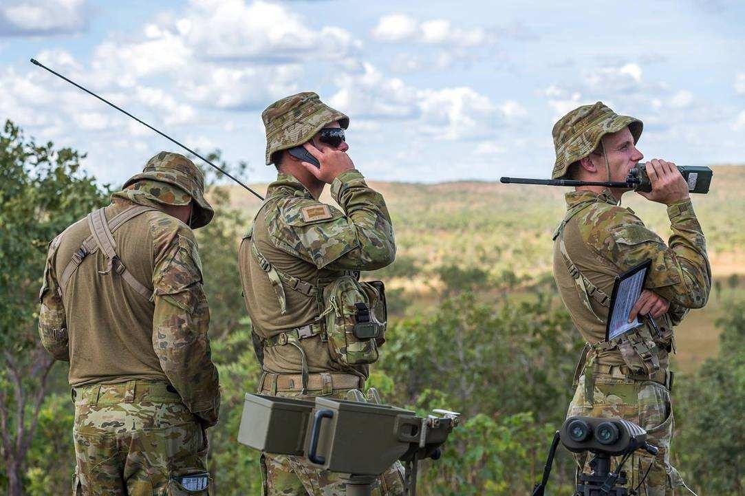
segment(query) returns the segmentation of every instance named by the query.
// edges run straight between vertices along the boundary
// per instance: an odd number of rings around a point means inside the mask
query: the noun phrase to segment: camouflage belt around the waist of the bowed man
[[[93,384],[73,387],[72,401],[89,404],[133,403],[153,401],[156,403],[180,403],[181,396],[171,384],[162,381],[133,380],[116,384]]]

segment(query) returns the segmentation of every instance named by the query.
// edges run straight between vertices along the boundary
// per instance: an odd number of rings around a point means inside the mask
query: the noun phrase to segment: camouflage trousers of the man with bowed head
[[[129,381],[72,390],[73,496],[207,496],[208,443],[197,418],[162,382]],[[209,494],[212,494],[209,492]]]

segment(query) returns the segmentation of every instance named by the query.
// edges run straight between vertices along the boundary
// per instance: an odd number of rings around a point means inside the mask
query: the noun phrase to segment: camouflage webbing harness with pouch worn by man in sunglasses
[[[352,366],[374,363],[378,360],[378,346],[384,343],[387,308],[384,284],[380,281],[360,282],[360,273],[345,270],[338,277],[320,278],[317,284],[303,281],[274,267],[264,257],[253,239],[256,218],[273,197],[267,197],[256,212],[253,222],[244,235],[257,264],[267,274],[279,302],[280,312],[287,312],[285,287],[303,296],[314,299],[318,316],[313,322],[301,327],[280,331],[267,339],[253,333],[256,356],[261,362],[263,349],[273,346],[294,346],[301,357],[302,394],[307,392],[308,363],[299,341],[309,337],[320,337],[327,343],[329,355],[343,369],[359,375]]]

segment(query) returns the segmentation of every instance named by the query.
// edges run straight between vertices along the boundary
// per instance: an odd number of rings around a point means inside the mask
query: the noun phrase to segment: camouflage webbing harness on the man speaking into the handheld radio
[[[564,228],[566,224],[571,220],[572,217],[579,214],[581,211],[589,206],[592,206],[593,202],[578,203],[571,209],[568,209],[564,219],[557,227],[554,232],[552,239],[557,241],[559,244],[559,251],[562,254],[566,269],[568,270],[569,276],[574,279],[574,284],[577,289],[577,293],[580,295],[583,305],[599,322],[605,322],[606,319],[599,317],[592,308],[590,299],[592,298],[600,306],[609,308],[610,298],[606,293],[603,293],[599,287],[595,286],[589,278],[587,278],[577,266],[569,258],[565,243],[564,243]],[[639,327],[627,331],[621,334],[620,337],[610,340],[609,342],[603,341],[600,343],[586,343],[586,348],[583,350],[583,358],[577,366],[577,375],[584,369],[589,372],[588,368],[593,365],[597,359],[597,354],[600,351],[608,352],[612,350],[618,350],[621,353],[621,357],[624,363],[627,364],[629,369],[635,374],[646,375],[651,377],[655,372],[660,369],[659,354],[662,349],[669,352],[673,349],[673,325],[670,317],[667,314],[664,316],[662,325],[659,326],[659,331],[653,328],[649,319],[644,320],[644,324]],[[587,352],[592,349],[593,357],[588,363],[584,363]],[[586,383],[589,383],[589,378],[586,376]],[[586,384],[587,385],[587,384]]]

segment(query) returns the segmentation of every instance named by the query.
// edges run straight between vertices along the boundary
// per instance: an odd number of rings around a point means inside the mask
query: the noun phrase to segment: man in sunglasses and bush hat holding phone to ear
[[[238,255],[264,371],[259,392],[346,398],[364,387],[383,341],[382,284],[358,282],[358,271],[393,261],[390,215],[346,154],[346,115],[305,92],[276,101],[261,118],[266,163],[279,174]],[[326,184],[344,212],[318,200]],[[337,474],[298,457],[264,454],[261,475],[266,495],[346,494]],[[403,494],[400,463],[380,477],[376,491]]]

